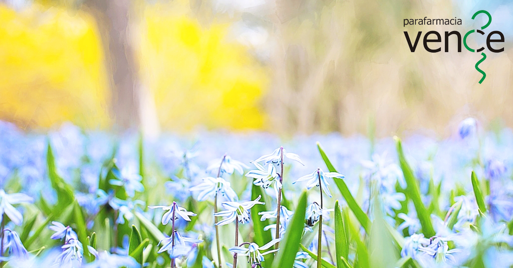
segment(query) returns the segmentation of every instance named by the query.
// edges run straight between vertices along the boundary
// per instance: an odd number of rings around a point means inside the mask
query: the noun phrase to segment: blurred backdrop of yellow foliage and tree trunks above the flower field
[[[463,35],[481,9],[506,39],[485,51],[483,84],[479,53],[409,51],[403,31]],[[512,14],[508,1],[0,0],[0,120],[151,136],[513,126]],[[463,25],[403,27],[425,16]]]

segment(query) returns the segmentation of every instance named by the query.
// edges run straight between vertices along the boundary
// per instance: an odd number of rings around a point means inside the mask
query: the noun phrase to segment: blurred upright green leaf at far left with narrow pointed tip
[[[57,172],[55,171],[55,159],[53,157],[50,141],[48,141],[46,162],[48,166],[48,176],[50,177],[50,182],[52,187],[55,189],[55,192],[57,192],[57,205],[55,206],[53,213],[58,215],[60,212],[62,212],[64,207],[75,201],[75,197],[73,195],[73,189],[71,186],[67,184],[63,178],[57,175]]]

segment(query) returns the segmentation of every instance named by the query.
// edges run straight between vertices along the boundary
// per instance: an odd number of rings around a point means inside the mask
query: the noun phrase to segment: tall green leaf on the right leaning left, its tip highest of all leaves
[[[406,195],[409,199],[411,199],[413,205],[415,205],[417,216],[419,217],[420,224],[422,225],[422,233],[425,237],[432,237],[436,234],[436,232],[433,228],[433,224],[431,223],[431,217],[429,216],[429,213],[427,212],[427,209],[422,202],[419,184],[415,176],[413,176],[411,167],[409,166],[408,162],[406,162],[403,146],[401,145],[401,139],[399,139],[397,136],[394,136],[393,139],[396,141],[397,155],[401,169],[403,170],[404,180],[406,181]]]

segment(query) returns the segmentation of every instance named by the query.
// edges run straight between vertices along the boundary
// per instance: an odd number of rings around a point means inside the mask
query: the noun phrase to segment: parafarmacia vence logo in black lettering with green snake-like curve
[[[479,10],[478,12],[474,13],[472,15],[472,20],[475,19],[476,16],[479,14],[485,14],[488,17],[488,22],[485,25],[483,25],[480,30],[470,30],[470,31],[466,32],[465,35],[463,36],[463,45],[470,52],[481,52],[481,51],[485,50],[484,47],[480,47],[478,49],[473,49],[467,44],[467,37],[471,33],[479,33],[481,35],[486,35],[485,32],[483,32],[482,30],[484,30],[488,26],[490,26],[491,15],[486,10]],[[404,24],[403,27],[405,27],[406,25],[417,25],[417,24],[418,25],[438,25],[438,24],[440,24],[440,25],[461,25],[461,19],[453,18],[453,19],[449,20],[446,18],[445,20],[443,20],[441,18],[430,19],[430,18],[424,17],[424,20],[422,20],[422,19],[415,19],[415,20],[405,19],[403,24]],[[406,37],[406,41],[408,42],[408,47],[410,48],[411,52],[415,52],[415,50],[417,49],[417,45],[419,44],[421,35],[422,35],[422,32],[421,31],[418,32],[417,37],[415,39],[415,43],[411,44],[411,39],[409,37],[408,32],[404,31],[404,36]],[[446,31],[445,32],[445,34],[444,34],[445,52],[449,52],[449,36],[451,36],[451,35],[455,35],[457,37],[458,52],[461,52],[462,38],[461,38],[460,32],[458,32],[458,31],[451,31],[451,32]],[[497,35],[499,37],[498,39],[496,37]],[[435,39],[432,39],[430,36],[434,36]],[[428,51],[428,52],[437,53],[437,52],[442,51],[441,46],[438,48],[432,48],[433,45],[431,45],[431,46],[428,45],[428,43],[441,43],[441,42],[442,42],[442,36],[437,31],[428,31],[424,35],[424,42],[423,42],[424,49],[426,49],[426,51]],[[491,31],[486,36],[486,48],[490,52],[494,52],[494,53],[503,52],[504,47],[497,48],[498,45],[492,44],[492,43],[504,43],[504,34],[502,34],[502,32],[500,32],[500,31]],[[482,78],[481,78],[481,80],[479,80],[479,84],[483,83],[484,79],[486,78],[486,73],[479,68],[479,64],[481,64],[484,60],[486,60],[486,54],[484,52],[481,52],[481,56],[482,56],[481,60],[479,60],[475,65],[476,70],[482,74]]]

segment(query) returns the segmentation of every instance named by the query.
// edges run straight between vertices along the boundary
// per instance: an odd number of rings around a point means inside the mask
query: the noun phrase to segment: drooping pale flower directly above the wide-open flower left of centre
[[[239,198],[230,185],[229,182],[221,177],[207,177],[203,179],[202,183],[189,188],[189,190],[191,192],[200,192],[197,197],[198,201],[212,199],[216,192],[229,201],[236,201]]]

